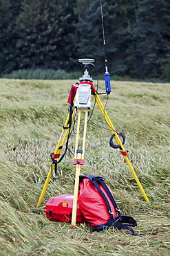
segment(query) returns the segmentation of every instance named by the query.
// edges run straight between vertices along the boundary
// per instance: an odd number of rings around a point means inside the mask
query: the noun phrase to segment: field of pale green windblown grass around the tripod
[[[112,228],[92,232],[85,224],[72,230],[68,223],[48,221],[48,199],[73,194],[75,165],[70,163],[59,164],[59,180],[50,180],[41,207],[36,208],[74,82],[0,79],[0,255],[170,255],[170,84],[111,81],[108,102],[100,95],[115,129],[126,136],[125,149],[150,203],[119,149],[109,146],[109,131],[96,126],[107,127],[97,106],[91,118],[96,125],[87,124],[81,174],[105,177],[122,213],[138,222],[138,236]],[[103,91],[100,81],[98,92]],[[72,134],[72,151],[74,145]],[[65,161],[73,161],[70,152]]]

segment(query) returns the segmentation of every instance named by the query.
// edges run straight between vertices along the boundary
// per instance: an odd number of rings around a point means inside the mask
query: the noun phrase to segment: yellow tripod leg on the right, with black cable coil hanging
[[[125,161],[127,162],[127,165],[129,166],[129,169],[131,170],[131,173],[133,174],[134,179],[136,180],[136,183],[138,184],[138,187],[140,188],[140,191],[142,192],[142,195],[145,198],[145,201],[147,201],[147,203],[149,203],[149,199],[147,198],[147,195],[145,194],[145,191],[143,190],[142,185],[141,185],[140,181],[138,180],[138,176],[136,175],[136,172],[134,171],[134,168],[132,167],[132,165],[129,161],[127,152],[125,151],[125,148],[123,147],[123,144],[122,144],[118,134],[116,133],[114,126],[112,125],[111,120],[109,119],[109,116],[107,115],[107,112],[105,111],[105,108],[104,108],[102,102],[100,101],[100,98],[97,93],[94,95],[94,99],[96,100],[96,103],[98,104],[100,112],[104,116],[109,128],[111,128],[111,134],[115,134],[114,138],[116,140],[117,145],[120,145],[120,148],[121,148],[120,152],[121,152],[121,154],[123,154]],[[114,131],[112,131],[112,130],[114,130]]]

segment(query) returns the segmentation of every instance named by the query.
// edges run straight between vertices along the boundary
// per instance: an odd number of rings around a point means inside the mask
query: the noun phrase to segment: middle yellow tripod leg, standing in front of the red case
[[[79,176],[81,173],[81,165],[83,165],[84,163],[85,138],[87,133],[87,118],[88,118],[88,110],[86,109],[84,133],[83,133],[83,149],[78,150],[79,130],[80,130],[80,121],[81,121],[81,109],[78,109],[78,123],[77,123],[77,131],[76,131],[76,147],[75,147],[75,158],[74,158],[74,164],[76,164],[76,177],[75,177],[75,184],[74,184],[74,199],[73,199],[73,208],[72,208],[72,226],[76,226],[78,185],[79,185]]]

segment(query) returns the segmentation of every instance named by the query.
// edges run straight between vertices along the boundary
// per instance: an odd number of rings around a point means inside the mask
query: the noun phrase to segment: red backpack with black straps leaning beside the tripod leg
[[[131,226],[137,226],[136,220],[120,213],[114,195],[105,179],[95,175],[81,175],[78,191],[78,205],[87,223],[94,231],[114,226],[124,228],[134,234]]]

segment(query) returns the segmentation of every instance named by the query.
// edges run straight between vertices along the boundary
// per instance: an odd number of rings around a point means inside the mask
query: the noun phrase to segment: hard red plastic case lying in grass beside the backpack
[[[61,194],[60,196],[54,196],[47,201],[46,217],[50,221],[60,221],[71,223],[72,221],[72,205],[73,205],[72,194]],[[83,214],[77,204],[76,212],[76,223],[83,223],[85,221]]]

